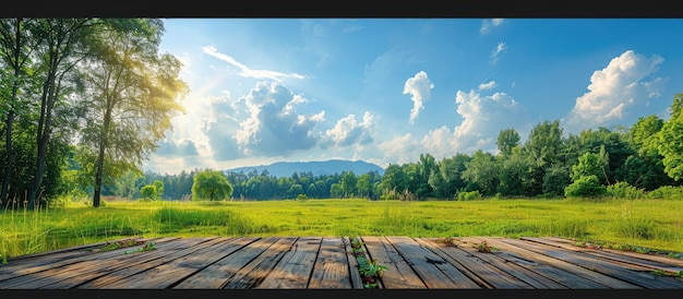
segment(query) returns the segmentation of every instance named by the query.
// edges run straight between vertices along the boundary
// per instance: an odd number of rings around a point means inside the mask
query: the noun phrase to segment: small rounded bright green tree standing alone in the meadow
[[[220,201],[232,195],[232,186],[223,172],[206,169],[194,175],[192,200]]]

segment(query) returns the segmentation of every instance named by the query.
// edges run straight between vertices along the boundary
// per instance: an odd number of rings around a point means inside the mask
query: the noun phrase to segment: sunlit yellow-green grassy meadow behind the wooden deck
[[[129,237],[558,236],[683,252],[681,200],[112,201],[0,211],[0,256]]]

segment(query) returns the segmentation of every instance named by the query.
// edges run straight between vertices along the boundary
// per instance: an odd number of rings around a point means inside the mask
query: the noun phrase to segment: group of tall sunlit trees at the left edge
[[[0,206],[103,184],[171,130],[188,93],[158,19],[0,19]]]

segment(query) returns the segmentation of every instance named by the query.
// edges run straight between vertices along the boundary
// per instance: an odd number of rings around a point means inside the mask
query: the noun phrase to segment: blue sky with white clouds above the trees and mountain
[[[165,19],[185,113],[145,170],[274,162],[386,167],[669,118],[683,19]]]

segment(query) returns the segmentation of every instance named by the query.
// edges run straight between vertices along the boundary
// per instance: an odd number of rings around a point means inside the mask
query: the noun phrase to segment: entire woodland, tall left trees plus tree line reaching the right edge
[[[189,87],[160,53],[158,19],[0,19],[0,208],[89,199],[190,200],[195,175],[142,171]],[[232,200],[367,198],[638,198],[679,192],[683,94],[670,118],[565,134],[559,120],[523,141],[500,131],[495,153],[429,153],[376,172],[227,172]],[[225,198],[225,196],[224,196]]]

